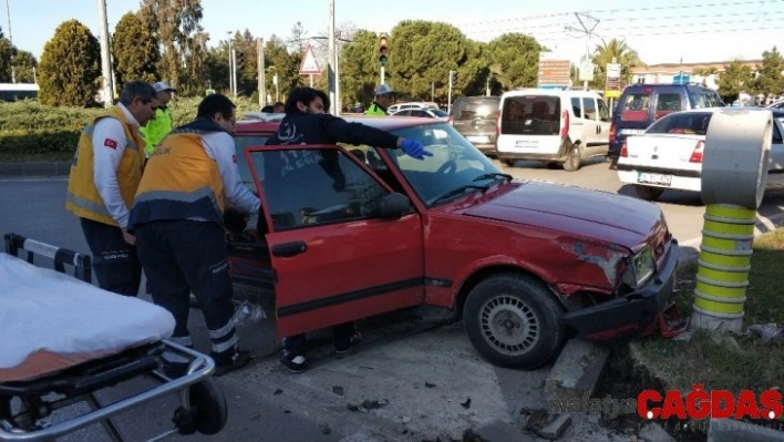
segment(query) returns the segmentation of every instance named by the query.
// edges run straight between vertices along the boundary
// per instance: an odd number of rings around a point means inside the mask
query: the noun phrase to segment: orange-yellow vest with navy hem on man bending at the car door
[[[155,147],[131,208],[131,226],[165,219],[202,217],[224,224],[224,182],[202,134],[225,132],[196,120],[169,133]]]

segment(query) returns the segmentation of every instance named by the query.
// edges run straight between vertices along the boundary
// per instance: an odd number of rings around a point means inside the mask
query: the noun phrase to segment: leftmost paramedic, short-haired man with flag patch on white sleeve
[[[142,279],[127,226],[144,165],[138,127],[157,106],[152,85],[125,83],[120,102],[82,131],[71,165],[65,208],[80,218],[100,287],[121,295],[136,296]]]

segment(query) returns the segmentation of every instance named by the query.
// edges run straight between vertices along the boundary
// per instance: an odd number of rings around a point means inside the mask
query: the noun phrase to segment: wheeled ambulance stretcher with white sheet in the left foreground
[[[167,341],[172,315],[151,302],[90,284],[91,258],[16,234],[0,251],[0,441],[54,440],[101,423],[114,441],[123,436],[112,417],[171,393],[179,393],[173,434],[218,433],[226,424],[223,390],[212,378],[208,356]],[[20,256],[25,254],[25,258]],[[53,260],[54,270],[34,257]],[[65,266],[73,267],[73,276]],[[162,356],[189,362],[169,378]],[[142,391],[102,404],[97,392],[143,378]],[[135,389],[138,390],[138,389]],[[122,393],[122,394],[120,394]],[[89,405],[89,411],[80,412]],[[69,409],[58,413],[58,410]],[[61,414],[65,419],[55,419]]]

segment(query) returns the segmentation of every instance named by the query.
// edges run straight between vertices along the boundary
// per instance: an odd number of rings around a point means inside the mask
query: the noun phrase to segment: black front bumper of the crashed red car
[[[670,305],[679,254],[678,241],[673,239],[663,265],[643,287],[623,297],[569,311],[563,317],[564,323],[580,336],[601,335],[599,339],[649,329]]]

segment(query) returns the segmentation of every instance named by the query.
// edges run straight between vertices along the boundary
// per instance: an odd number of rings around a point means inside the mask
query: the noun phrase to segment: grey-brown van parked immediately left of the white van
[[[452,104],[452,125],[487,155],[495,155],[498,103],[501,96],[461,96]]]

